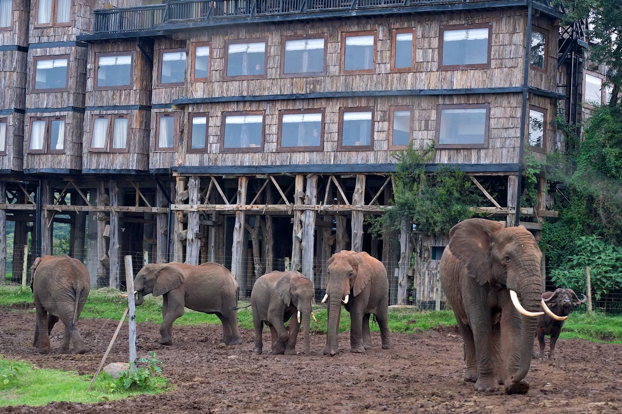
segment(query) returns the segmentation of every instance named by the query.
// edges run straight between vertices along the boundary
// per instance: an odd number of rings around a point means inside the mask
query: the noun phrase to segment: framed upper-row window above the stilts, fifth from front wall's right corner
[[[265,38],[225,41],[225,79],[266,78]]]

